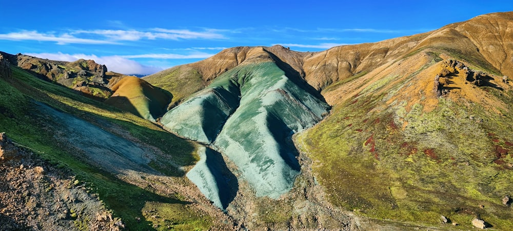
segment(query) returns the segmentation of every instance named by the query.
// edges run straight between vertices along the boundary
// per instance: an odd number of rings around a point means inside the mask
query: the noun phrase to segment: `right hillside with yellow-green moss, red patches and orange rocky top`
[[[424,49],[322,92],[332,113],[297,142],[332,203],[379,219],[513,225],[502,204],[513,191],[512,84],[451,51]]]

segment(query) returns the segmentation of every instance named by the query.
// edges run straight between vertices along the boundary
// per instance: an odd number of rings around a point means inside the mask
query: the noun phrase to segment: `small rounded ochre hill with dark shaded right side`
[[[111,87],[114,92],[106,104],[155,121],[171,102],[172,95],[135,76],[126,76]]]

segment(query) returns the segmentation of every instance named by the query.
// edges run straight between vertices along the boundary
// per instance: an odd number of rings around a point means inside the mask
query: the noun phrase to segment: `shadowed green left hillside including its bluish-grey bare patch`
[[[126,226],[194,230],[225,225],[222,220],[213,224],[211,216],[224,215],[185,179],[184,169],[196,161],[195,144],[131,113],[10,68],[12,74],[0,76],[0,130],[76,175],[76,183],[97,195]],[[70,230],[83,228],[84,219],[96,216],[73,209],[77,227]],[[166,220],[154,219],[155,213]],[[51,220],[57,215],[47,216]]]

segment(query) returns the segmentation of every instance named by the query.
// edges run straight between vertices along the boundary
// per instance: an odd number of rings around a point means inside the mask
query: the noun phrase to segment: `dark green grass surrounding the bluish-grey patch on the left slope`
[[[97,193],[106,206],[113,210],[114,215],[121,217],[132,230],[152,229],[152,224],[145,220],[143,214],[143,208],[148,203],[160,203],[169,208],[161,214],[170,217],[170,227],[193,230],[205,229],[211,225],[208,216],[196,214],[188,207],[189,203],[179,197],[157,195],[128,184],[74,155],[76,152],[54,137],[52,128],[55,124],[58,125],[58,121],[45,121],[45,117],[38,114],[33,101],[44,102],[57,110],[74,114],[117,136],[131,137],[159,148],[164,153],[164,161],[153,165],[168,169],[168,173],[174,177],[184,176],[183,170],[176,166],[195,163],[197,157],[192,143],[135,115],[87,99],[70,89],[36,79],[23,69],[12,67],[12,72],[12,80],[0,79],[0,130],[7,132],[16,143],[29,147],[56,166],[71,169],[81,180],[81,184],[86,184],[91,192]],[[177,211],[187,213],[188,219],[181,218]],[[141,222],[136,222],[135,217],[142,218]]]

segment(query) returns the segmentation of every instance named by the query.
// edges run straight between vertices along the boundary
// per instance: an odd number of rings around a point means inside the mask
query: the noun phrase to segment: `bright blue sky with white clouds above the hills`
[[[0,0],[0,10],[0,51],[150,74],[235,46],[320,51],[378,42],[513,11],[513,3]]]

